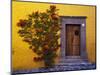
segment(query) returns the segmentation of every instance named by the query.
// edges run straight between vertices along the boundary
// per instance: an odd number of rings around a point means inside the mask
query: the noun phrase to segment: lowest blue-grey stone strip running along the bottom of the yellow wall
[[[16,75],[19,73],[37,73],[37,72],[55,72],[55,71],[73,71],[73,70],[89,70],[89,69],[96,69],[96,64],[85,63],[85,64],[78,64],[78,65],[55,65],[53,68],[39,68],[39,69],[32,69],[32,70],[19,70],[14,71],[12,75]]]

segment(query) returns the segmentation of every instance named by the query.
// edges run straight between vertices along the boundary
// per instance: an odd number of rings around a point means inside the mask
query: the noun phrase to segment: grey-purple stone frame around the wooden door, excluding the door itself
[[[60,16],[61,18],[61,58],[66,59],[66,24],[80,25],[80,57],[87,59],[86,50],[86,16]]]

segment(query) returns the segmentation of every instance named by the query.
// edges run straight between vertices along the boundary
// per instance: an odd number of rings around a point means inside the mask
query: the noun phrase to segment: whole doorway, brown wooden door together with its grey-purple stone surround
[[[68,58],[87,59],[86,17],[61,16],[61,60]]]

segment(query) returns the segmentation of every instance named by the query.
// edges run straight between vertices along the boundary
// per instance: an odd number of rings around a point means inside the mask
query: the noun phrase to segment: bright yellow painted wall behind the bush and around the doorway
[[[77,6],[55,4],[61,16],[87,16],[86,19],[86,46],[90,62],[95,62],[95,6]],[[43,66],[43,62],[33,62],[36,56],[29,45],[22,41],[17,33],[16,23],[19,19],[27,18],[33,11],[44,12],[50,4],[32,2],[12,2],[12,67],[16,69],[32,69]]]

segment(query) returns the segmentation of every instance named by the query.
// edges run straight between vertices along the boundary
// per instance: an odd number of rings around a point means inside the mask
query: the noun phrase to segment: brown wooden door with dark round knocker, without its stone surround
[[[66,25],[66,56],[80,55],[80,25]]]

